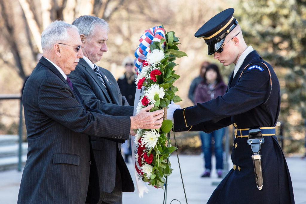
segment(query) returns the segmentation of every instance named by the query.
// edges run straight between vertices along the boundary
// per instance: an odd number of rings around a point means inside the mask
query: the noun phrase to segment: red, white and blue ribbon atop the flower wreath
[[[135,71],[138,75],[141,72],[142,63],[150,52],[150,44],[153,42],[160,42],[161,39],[166,39],[165,29],[162,26],[155,26],[153,28],[147,29],[144,34],[140,37],[140,44],[137,47],[134,55],[136,59],[134,60]],[[162,48],[165,47],[165,42],[162,44]]]

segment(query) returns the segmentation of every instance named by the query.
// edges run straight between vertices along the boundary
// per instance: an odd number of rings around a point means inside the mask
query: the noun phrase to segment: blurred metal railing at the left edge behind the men
[[[21,144],[22,144],[22,119],[23,119],[23,114],[22,114],[22,102],[21,102],[21,94],[0,94],[0,100],[19,100],[20,101],[20,112],[19,112],[19,147],[18,147],[18,171],[21,171],[21,154],[22,154],[22,149],[21,149]]]

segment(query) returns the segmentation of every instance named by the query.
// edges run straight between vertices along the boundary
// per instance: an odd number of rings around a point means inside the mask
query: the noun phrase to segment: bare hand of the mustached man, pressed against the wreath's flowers
[[[131,129],[141,128],[141,129],[158,129],[162,127],[162,116],[164,115],[164,110],[155,110],[151,113],[149,111],[154,104],[141,109],[137,115],[131,118]]]

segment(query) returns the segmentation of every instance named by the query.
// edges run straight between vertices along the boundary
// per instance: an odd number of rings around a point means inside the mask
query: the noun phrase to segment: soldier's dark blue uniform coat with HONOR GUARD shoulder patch
[[[272,90],[269,70],[262,62],[271,72]],[[233,74],[230,77],[225,95],[175,110],[174,130],[209,133],[230,124],[235,128],[275,127],[279,109],[278,78],[272,66],[254,50],[244,59],[235,77]],[[232,150],[233,169],[207,203],[294,203],[288,166],[278,141],[275,136],[264,138],[260,150],[263,189],[259,191],[256,187],[248,138],[236,138]]]

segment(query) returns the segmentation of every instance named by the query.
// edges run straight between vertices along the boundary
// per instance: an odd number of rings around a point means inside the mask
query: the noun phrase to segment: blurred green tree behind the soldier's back
[[[299,135],[306,118],[306,1],[238,0],[234,15],[247,44],[275,68],[281,86],[279,119],[290,136]],[[300,122],[295,124],[292,114]]]

